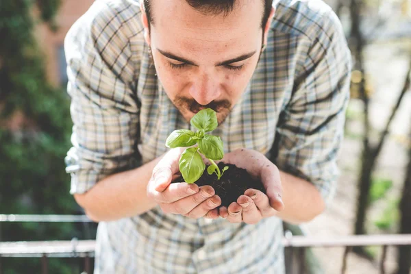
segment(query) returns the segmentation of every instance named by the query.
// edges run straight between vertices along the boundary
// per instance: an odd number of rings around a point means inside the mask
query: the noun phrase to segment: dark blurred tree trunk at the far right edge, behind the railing
[[[411,234],[411,146],[408,148],[407,173],[406,179],[404,180],[400,211],[401,221],[399,233]],[[397,274],[409,274],[411,269],[411,247],[401,246],[398,248],[398,251],[399,257]]]

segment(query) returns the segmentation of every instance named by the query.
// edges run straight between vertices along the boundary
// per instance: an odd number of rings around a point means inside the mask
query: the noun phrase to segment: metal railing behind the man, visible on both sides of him
[[[35,221],[35,222],[90,222],[86,216],[42,216],[42,215],[0,215],[0,221]],[[283,238],[283,245],[290,251],[290,258],[298,258],[296,262],[287,264],[287,273],[307,273],[306,249],[312,247],[345,247],[343,255],[342,274],[347,269],[347,256],[353,247],[381,246],[382,255],[379,260],[379,273],[386,273],[386,251],[390,246],[411,246],[411,234],[384,234],[384,235],[352,235],[338,237],[293,236],[287,231]],[[0,258],[40,258],[42,274],[47,274],[47,258],[84,258],[84,273],[90,273],[91,259],[94,257],[95,240],[69,241],[29,241],[29,242],[0,242]],[[295,256],[297,254],[297,256]],[[294,259],[295,260],[295,259]],[[0,264],[0,273],[1,264]]]

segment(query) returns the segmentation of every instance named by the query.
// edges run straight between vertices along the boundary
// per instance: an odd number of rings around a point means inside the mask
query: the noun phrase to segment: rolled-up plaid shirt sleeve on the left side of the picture
[[[73,120],[65,158],[71,194],[138,162],[138,100],[127,18],[96,1],[64,41]]]

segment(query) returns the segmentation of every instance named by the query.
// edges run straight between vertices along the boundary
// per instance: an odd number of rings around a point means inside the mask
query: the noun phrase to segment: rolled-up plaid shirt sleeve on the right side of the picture
[[[328,205],[339,175],[351,54],[336,15],[330,12],[322,21],[301,46],[292,97],[277,125],[275,163],[314,184]]]

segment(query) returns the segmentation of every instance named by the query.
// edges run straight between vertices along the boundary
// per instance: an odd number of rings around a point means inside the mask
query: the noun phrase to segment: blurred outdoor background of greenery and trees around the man
[[[63,42],[92,2],[0,0],[0,273],[92,271],[92,252],[19,255],[21,241],[95,239],[64,171],[72,123]],[[353,57],[338,192],[311,223],[284,227],[285,239],[333,247],[288,248],[287,272],[408,274],[411,240],[400,234],[411,234],[411,0],[326,2]],[[374,242],[343,238],[354,234]],[[347,240],[327,240],[338,238]]]

